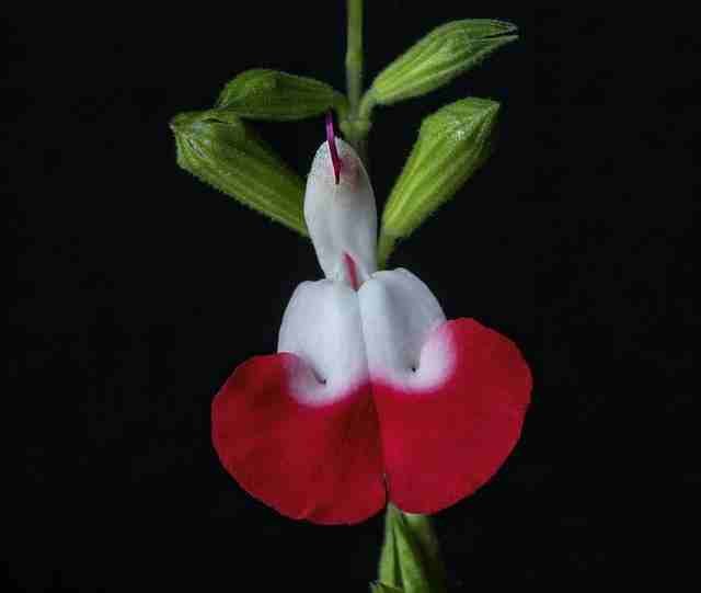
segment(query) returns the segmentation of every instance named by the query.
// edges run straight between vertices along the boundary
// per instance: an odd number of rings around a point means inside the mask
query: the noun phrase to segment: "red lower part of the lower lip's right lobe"
[[[446,509],[486,482],[518,441],[530,401],[530,370],[505,337],[458,319],[436,329],[427,347],[440,343],[456,356],[440,386],[372,386],[389,497],[411,513]]]

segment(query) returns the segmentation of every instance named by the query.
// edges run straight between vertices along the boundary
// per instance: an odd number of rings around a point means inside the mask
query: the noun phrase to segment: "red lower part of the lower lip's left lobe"
[[[377,414],[369,386],[326,406],[300,403],[294,354],[240,365],[212,402],[212,441],[250,494],[292,518],[359,523],[386,504]]]

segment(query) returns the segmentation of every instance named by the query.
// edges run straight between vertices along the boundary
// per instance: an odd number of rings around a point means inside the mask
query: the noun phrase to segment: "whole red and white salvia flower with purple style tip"
[[[530,400],[528,365],[496,331],[448,321],[411,272],[378,271],[375,194],[332,126],[304,219],[325,278],[292,294],[277,354],[244,362],[217,394],[217,454],[289,517],[357,523],[388,501],[440,511],[509,455]]]

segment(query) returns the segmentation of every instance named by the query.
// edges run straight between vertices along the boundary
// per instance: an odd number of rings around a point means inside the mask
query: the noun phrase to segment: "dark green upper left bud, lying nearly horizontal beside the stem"
[[[313,117],[331,109],[345,115],[347,100],[313,78],[256,68],[229,82],[216,107],[239,117],[281,122]]]

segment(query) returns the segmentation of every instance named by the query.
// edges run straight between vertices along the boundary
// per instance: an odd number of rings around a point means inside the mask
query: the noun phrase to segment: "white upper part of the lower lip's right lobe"
[[[402,269],[377,272],[358,297],[374,381],[425,390],[444,380],[452,357],[449,344],[433,339],[432,332],[446,316],[421,280]]]

